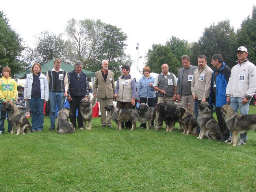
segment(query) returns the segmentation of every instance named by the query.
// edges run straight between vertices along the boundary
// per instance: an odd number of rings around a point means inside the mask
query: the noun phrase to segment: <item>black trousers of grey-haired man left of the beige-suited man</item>
[[[70,111],[72,116],[70,116],[70,122],[76,128],[76,109],[78,110],[77,113],[77,124],[78,128],[83,127],[83,119],[80,112],[80,102],[84,98],[84,96],[71,96],[72,101],[69,102],[70,104]]]

